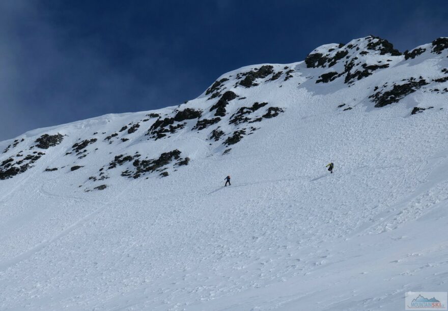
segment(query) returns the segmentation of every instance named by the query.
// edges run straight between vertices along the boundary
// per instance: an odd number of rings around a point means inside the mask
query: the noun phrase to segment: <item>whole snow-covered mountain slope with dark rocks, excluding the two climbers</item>
[[[369,36],[0,142],[0,309],[398,310],[446,291],[447,57],[448,38]]]

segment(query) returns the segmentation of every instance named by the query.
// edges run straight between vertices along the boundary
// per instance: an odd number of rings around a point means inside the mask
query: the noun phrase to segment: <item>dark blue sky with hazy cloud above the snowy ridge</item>
[[[375,35],[403,51],[448,36],[440,1],[0,2],[0,140],[177,105],[221,74]]]

